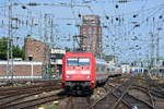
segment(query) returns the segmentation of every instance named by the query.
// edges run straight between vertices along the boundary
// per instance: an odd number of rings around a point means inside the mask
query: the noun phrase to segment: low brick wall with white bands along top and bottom
[[[0,78],[7,78],[8,61],[0,61]],[[40,78],[42,62],[14,61],[13,78]]]

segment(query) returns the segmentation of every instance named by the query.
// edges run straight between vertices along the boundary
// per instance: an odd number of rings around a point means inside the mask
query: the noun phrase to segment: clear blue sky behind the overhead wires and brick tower
[[[9,0],[0,0],[0,37],[8,36]],[[23,45],[28,34],[55,48],[73,48],[81,15],[101,16],[103,52],[121,62],[148,61],[164,57],[163,0],[11,0],[15,45]],[[39,5],[27,5],[37,2]],[[25,5],[25,9],[22,7]],[[44,37],[46,36],[46,37]],[[17,44],[19,43],[19,44]],[[157,50],[159,49],[159,50]],[[159,51],[159,52],[157,52]]]

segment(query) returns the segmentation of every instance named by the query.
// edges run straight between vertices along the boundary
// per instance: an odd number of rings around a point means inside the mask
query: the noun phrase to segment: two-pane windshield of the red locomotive
[[[90,65],[89,58],[68,58],[68,65]]]

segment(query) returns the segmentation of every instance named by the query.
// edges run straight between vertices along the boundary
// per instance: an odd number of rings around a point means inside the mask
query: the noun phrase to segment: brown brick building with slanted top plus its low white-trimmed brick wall
[[[49,60],[50,49],[46,44],[31,37],[25,38],[25,61],[13,61],[14,78],[40,78],[43,68]],[[0,61],[0,78],[7,77],[8,61]]]

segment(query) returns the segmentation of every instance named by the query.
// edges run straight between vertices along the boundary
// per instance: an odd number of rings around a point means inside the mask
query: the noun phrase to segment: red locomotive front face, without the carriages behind
[[[66,87],[92,87],[93,55],[70,53],[63,59],[62,81]],[[94,82],[93,82],[94,83]]]

